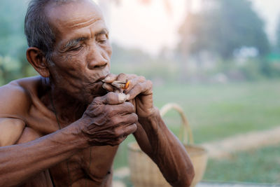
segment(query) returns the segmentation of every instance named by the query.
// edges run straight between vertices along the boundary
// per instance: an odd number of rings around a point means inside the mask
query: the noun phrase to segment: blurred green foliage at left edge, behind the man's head
[[[0,1],[0,84],[35,74],[26,60],[24,19],[27,0]]]

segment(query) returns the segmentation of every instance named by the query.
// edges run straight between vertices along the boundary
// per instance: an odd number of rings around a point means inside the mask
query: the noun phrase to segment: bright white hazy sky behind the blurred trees
[[[162,48],[174,49],[179,43],[178,30],[186,17],[186,0],[169,0],[167,9],[163,0],[151,0],[148,6],[140,0],[96,1],[104,11],[110,30],[111,41],[126,48],[140,48],[157,55]],[[202,0],[193,0],[192,11],[200,11]],[[253,8],[265,21],[265,30],[271,41],[275,38],[275,27],[280,13],[279,0],[250,0]]]

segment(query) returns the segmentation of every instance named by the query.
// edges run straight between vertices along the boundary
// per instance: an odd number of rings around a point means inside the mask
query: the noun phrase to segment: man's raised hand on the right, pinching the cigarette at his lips
[[[134,74],[109,74],[103,81],[103,88],[110,92],[118,90],[118,88],[111,85],[113,81],[130,81],[128,88],[123,90],[123,92],[129,95],[128,100],[135,105],[137,116],[139,118],[146,118],[155,112],[153,106],[153,83],[147,81],[144,76],[137,76]]]

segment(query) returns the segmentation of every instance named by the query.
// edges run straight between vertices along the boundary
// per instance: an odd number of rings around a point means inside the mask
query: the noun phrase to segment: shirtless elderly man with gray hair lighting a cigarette
[[[40,76],[0,88],[0,186],[111,186],[113,158],[129,134],[172,186],[190,185],[193,165],[153,106],[151,81],[110,74],[96,4],[33,0],[25,33]],[[130,80],[123,94],[116,80]]]

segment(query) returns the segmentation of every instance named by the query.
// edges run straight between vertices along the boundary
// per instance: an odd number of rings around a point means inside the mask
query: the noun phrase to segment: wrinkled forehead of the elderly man
[[[91,0],[50,3],[46,6],[45,13],[50,25],[59,34],[90,26],[94,22],[104,22],[102,12]]]

